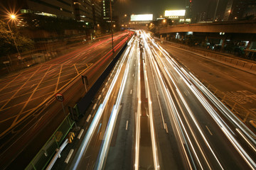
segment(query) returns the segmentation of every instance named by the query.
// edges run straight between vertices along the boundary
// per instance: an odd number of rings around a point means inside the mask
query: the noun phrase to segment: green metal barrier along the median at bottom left
[[[70,115],[68,114],[63,122],[60,124],[57,130],[49,138],[45,145],[40,149],[36,157],[26,167],[26,170],[37,170],[37,169],[46,169],[46,166],[50,162],[53,155],[56,153],[55,149],[60,148],[65,136],[68,134],[70,129],[73,127],[75,121],[71,120]]]

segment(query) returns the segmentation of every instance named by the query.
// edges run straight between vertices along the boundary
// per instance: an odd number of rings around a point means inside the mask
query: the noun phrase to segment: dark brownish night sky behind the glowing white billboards
[[[217,0],[192,0],[193,14],[208,11],[213,16]],[[220,0],[217,15],[223,15],[228,0]],[[115,13],[144,14],[153,13],[154,18],[164,15],[165,10],[185,9],[185,0],[116,0]]]

